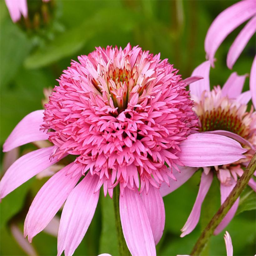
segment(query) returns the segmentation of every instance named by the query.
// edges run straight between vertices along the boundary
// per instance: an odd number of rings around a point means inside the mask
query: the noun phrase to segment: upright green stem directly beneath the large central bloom
[[[121,226],[121,220],[120,220],[120,214],[119,214],[119,196],[120,196],[120,189],[119,189],[119,186],[116,186],[113,191],[113,200],[114,200],[118,247],[119,247],[119,254],[122,256],[126,256],[126,255],[130,255],[130,252],[126,246],[126,241],[125,241],[122,226]]]

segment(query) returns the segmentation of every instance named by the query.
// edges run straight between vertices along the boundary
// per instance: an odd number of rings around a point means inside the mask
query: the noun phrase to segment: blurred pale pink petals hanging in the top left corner
[[[48,2],[49,0],[42,0]],[[27,0],[5,0],[12,21],[15,23],[21,16],[27,18]]]

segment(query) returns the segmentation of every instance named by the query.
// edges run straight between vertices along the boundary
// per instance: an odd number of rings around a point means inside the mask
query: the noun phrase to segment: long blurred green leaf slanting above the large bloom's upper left
[[[125,23],[122,23],[123,17],[126,17]],[[56,62],[80,50],[97,33],[110,28],[118,33],[129,31],[136,25],[136,20],[139,20],[139,15],[129,10],[102,9],[79,26],[56,37],[45,48],[38,49],[26,59],[25,66],[38,68]]]

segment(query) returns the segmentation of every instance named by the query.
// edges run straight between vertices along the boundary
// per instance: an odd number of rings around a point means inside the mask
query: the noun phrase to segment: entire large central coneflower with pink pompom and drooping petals
[[[74,162],[54,174],[33,200],[24,224],[28,240],[66,201],[58,255],[63,250],[72,255],[91,223],[101,186],[110,197],[118,186],[128,249],[132,255],[155,255],[165,224],[159,187],[175,179],[172,168],[184,160],[192,166],[227,164],[245,150],[222,135],[191,134],[198,119],[186,83],[160,54],[128,44],[124,50],[98,47],[78,60],[63,71],[45,110],[24,117],[4,143],[4,151],[34,140],[48,139],[53,146],[14,162],[0,182],[0,198],[73,155]]]

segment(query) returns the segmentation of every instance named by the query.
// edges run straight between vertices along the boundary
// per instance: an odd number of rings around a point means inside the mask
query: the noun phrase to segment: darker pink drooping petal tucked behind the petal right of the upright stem
[[[160,241],[165,227],[165,205],[159,189],[149,185],[148,193],[142,190],[140,194],[144,203],[150,226],[155,240],[155,245]]]

